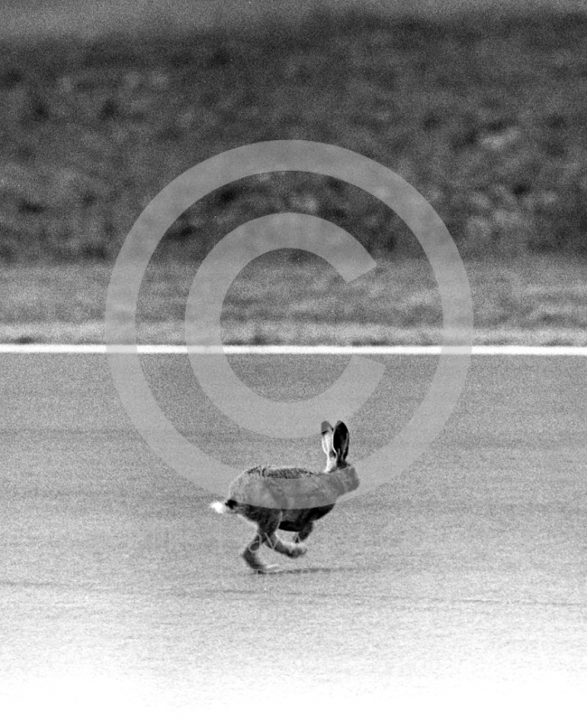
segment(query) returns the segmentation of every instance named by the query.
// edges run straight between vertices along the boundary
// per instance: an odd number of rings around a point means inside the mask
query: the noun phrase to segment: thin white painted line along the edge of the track
[[[438,356],[440,346],[191,346],[194,354],[376,354],[396,356]],[[461,354],[467,348],[444,347],[443,353]],[[188,347],[168,344],[0,344],[0,354],[186,354]],[[473,346],[471,354],[480,356],[587,356],[584,346]]]

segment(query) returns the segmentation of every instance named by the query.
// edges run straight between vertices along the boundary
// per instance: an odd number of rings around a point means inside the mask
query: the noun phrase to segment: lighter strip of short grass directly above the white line
[[[587,265],[530,258],[466,267],[475,343],[587,344]],[[2,268],[0,343],[103,343],[110,271],[105,264]],[[194,272],[173,262],[149,268],[139,343],[184,343]],[[440,342],[443,317],[421,259],[382,262],[346,284],[320,258],[293,263],[274,254],[238,275],[221,321],[224,343],[426,344]]]

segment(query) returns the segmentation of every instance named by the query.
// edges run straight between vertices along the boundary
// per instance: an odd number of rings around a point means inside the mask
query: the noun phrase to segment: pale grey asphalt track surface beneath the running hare
[[[355,462],[411,417],[436,362],[377,361],[376,397],[347,420]],[[143,362],[175,427],[225,464],[321,467],[318,434],[243,432],[185,356]],[[347,362],[232,360],[274,399]],[[0,356],[0,390],[3,719],[585,719],[582,358],[473,357],[433,446],[341,502],[305,558],[266,550],[270,576],[238,557],[252,529],[145,445],[104,355]]]

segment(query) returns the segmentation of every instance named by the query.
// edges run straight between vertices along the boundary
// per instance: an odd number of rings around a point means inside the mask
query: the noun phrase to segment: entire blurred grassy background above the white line
[[[8,0],[0,341],[102,341],[109,272],[146,203],[212,155],[300,138],[387,165],[433,205],[470,273],[478,343],[585,343],[582,5]],[[233,183],[183,214],[144,279],[141,339],[180,341],[201,258],[278,211],[349,230],[377,270],[353,286],[311,254],[258,259],[227,298],[227,343],[437,341],[411,232],[311,174]]]

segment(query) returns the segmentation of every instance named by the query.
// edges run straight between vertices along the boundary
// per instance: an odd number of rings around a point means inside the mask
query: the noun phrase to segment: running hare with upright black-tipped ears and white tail
[[[305,555],[303,540],[312,532],[314,521],[331,512],[341,494],[359,486],[354,468],[347,463],[349,430],[344,422],[334,428],[322,422],[321,438],[327,458],[324,473],[299,467],[251,467],[230,485],[228,500],[210,505],[215,512],[239,514],[256,525],[256,535],[242,553],[256,572],[276,567],[259,559],[262,542],[289,558]],[[293,542],[281,540],[277,530],[295,532]]]

